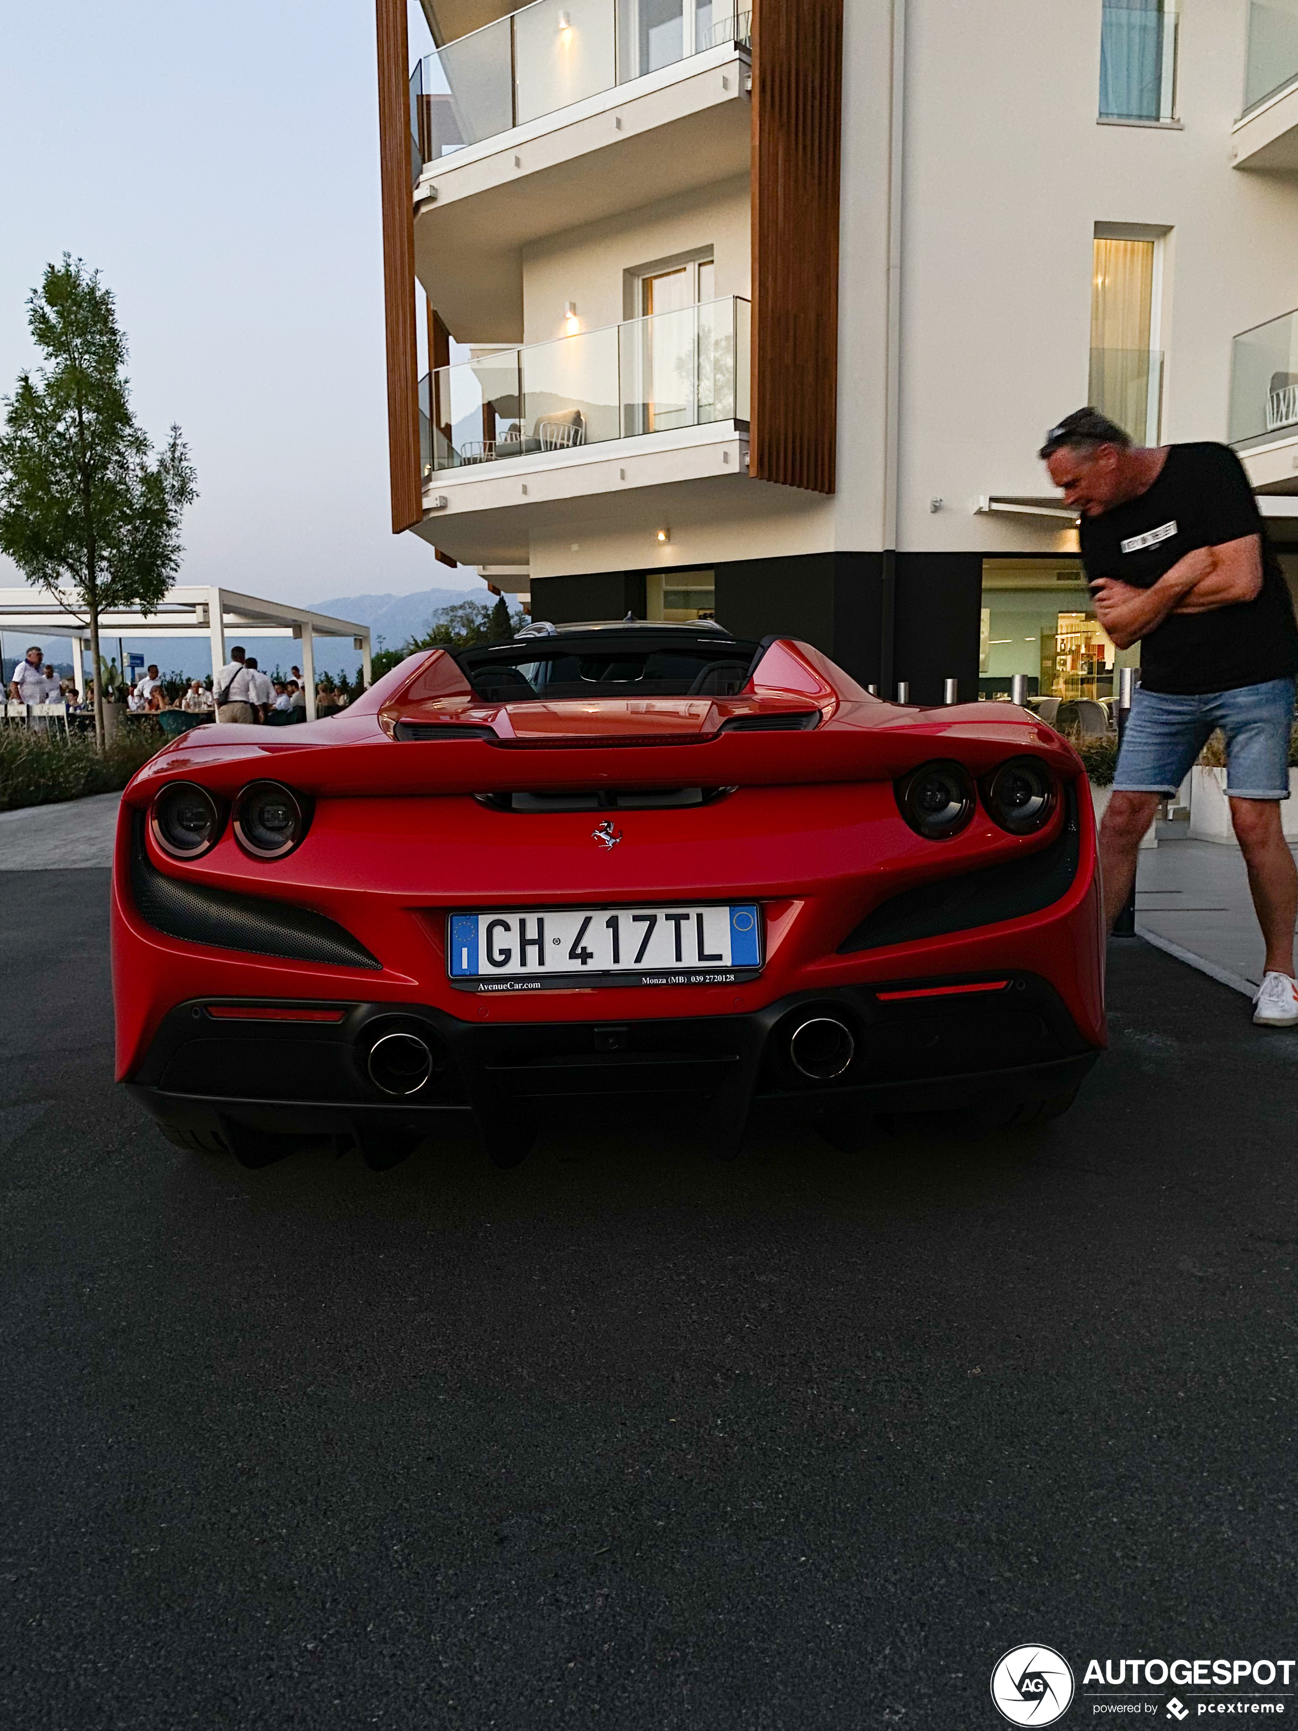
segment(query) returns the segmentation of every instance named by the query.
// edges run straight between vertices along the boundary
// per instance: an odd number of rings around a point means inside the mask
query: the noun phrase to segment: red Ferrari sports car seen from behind
[[[389,1165],[471,1115],[1066,1106],[1104,1046],[1085,772],[1023,710],[883,703],[711,623],[412,656],[202,727],[121,805],[118,1075],[171,1141]]]

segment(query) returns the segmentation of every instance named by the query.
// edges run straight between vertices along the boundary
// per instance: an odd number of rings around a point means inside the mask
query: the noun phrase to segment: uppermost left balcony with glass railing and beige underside
[[[459,341],[533,334],[523,253],[537,241],[748,177],[749,14],[668,0],[652,29],[633,28],[646,16],[630,0],[537,0],[417,64],[415,273]]]

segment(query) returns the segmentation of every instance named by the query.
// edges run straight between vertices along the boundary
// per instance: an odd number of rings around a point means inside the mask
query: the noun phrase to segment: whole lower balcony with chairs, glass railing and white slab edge
[[[602,495],[616,516],[628,492],[742,474],[749,350],[729,296],[424,374],[424,530],[467,563],[526,563],[538,509]]]

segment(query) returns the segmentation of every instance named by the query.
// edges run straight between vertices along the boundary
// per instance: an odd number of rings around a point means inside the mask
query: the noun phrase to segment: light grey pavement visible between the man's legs
[[[1265,947],[1234,845],[1160,824],[1158,848],[1141,853],[1135,872],[1135,930],[1236,992],[1251,997],[1262,983]]]

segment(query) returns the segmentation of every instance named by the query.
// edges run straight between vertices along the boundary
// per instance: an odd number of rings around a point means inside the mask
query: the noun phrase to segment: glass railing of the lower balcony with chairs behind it
[[[749,313],[746,299],[729,296],[424,374],[424,479],[710,421],[748,422]]]

